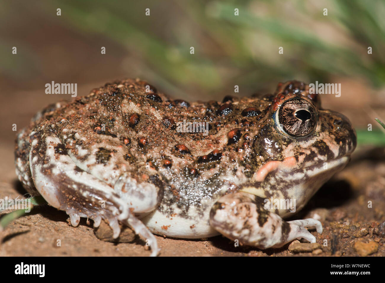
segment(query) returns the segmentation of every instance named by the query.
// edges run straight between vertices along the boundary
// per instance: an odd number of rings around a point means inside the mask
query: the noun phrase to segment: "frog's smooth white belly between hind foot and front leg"
[[[219,235],[218,231],[209,224],[210,209],[204,211],[203,217],[187,219],[176,216],[166,216],[159,210],[155,210],[142,222],[154,234],[175,238],[199,239]]]

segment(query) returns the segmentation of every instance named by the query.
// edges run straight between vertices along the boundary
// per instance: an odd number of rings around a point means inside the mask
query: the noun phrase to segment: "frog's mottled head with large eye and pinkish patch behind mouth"
[[[308,90],[301,82],[278,85],[253,143],[263,161],[254,179],[264,191],[282,191],[285,198],[306,196],[305,202],[345,167],[357,143],[350,121],[322,109],[318,95]]]

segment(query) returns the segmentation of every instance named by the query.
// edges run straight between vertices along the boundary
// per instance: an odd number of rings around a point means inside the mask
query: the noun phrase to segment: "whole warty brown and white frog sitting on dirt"
[[[203,122],[206,132],[190,131]],[[129,226],[152,256],[154,234],[223,235],[267,249],[316,242],[308,229],[322,234],[319,220],[284,219],[346,166],[356,145],[348,118],[323,109],[304,82],[188,102],[125,79],[38,112],[17,133],[15,167],[28,193],[65,211],[72,226],[103,220],[114,238]]]

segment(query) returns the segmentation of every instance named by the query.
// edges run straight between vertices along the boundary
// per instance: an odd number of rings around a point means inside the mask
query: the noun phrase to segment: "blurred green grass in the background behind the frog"
[[[0,3],[0,10],[7,5]],[[192,93],[228,94],[237,84],[247,95],[294,78],[330,82],[347,77],[373,89],[385,86],[384,0],[52,0],[36,5],[47,23],[122,46],[135,58],[137,72],[146,70],[154,84],[181,96],[186,95],[178,88],[182,85]],[[53,12],[58,7],[61,17]],[[323,8],[328,8],[327,16]],[[278,54],[280,46],[283,55]],[[34,60],[39,59],[28,56],[25,62],[39,65]],[[4,64],[0,70],[25,72],[13,68],[12,60]],[[384,144],[381,132],[365,131],[358,131],[360,142]]]

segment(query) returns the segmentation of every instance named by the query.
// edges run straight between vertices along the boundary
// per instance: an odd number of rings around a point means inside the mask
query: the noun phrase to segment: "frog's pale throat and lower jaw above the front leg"
[[[341,171],[348,161],[349,157],[344,156],[294,171],[278,167],[271,174],[267,174],[259,186],[247,186],[241,191],[267,199],[267,210],[281,217],[289,217],[300,211],[316,191],[336,172]],[[294,204],[294,207],[280,209],[280,205],[275,205],[277,201]]]

